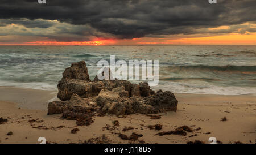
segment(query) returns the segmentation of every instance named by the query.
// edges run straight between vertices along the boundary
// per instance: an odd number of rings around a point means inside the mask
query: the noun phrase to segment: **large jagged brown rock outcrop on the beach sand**
[[[111,71],[109,68],[105,68]],[[104,73],[102,72],[102,75]],[[132,84],[126,80],[99,80],[96,76],[89,79],[88,69],[84,61],[72,63],[65,69],[63,78],[57,85],[61,101],[48,104],[48,114],[63,113],[65,119],[84,118],[82,114],[109,113],[153,114],[165,111],[176,111],[177,100],[169,91],[155,93],[147,83]],[[90,124],[92,122],[85,122]]]

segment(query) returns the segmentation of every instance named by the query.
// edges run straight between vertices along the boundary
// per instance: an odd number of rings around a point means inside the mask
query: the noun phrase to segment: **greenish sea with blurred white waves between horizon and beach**
[[[97,62],[110,55],[127,62],[158,59],[160,80],[153,89],[256,93],[256,46],[0,46],[0,86],[57,89],[64,69],[81,60],[93,79]]]

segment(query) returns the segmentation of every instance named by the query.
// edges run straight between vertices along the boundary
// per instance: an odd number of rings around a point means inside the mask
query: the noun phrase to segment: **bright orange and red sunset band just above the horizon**
[[[103,45],[256,45],[256,33],[210,36],[210,37],[185,37],[185,38],[134,38],[131,40],[118,39],[97,39],[93,41],[34,41],[22,42],[20,44],[1,44],[1,45],[46,45],[46,46],[103,46]]]

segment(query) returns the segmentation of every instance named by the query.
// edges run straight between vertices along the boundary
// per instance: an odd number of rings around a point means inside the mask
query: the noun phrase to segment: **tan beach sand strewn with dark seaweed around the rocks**
[[[83,143],[102,134],[106,134],[112,143],[134,143],[120,139],[113,132],[128,136],[136,132],[143,135],[139,140],[146,143],[187,143],[195,140],[209,143],[209,137],[216,137],[222,143],[256,142],[256,96],[253,95],[175,94],[179,101],[177,112],[157,114],[161,115],[160,119],[151,119],[142,114],[127,115],[126,118],[107,115],[94,117],[94,123],[90,126],[77,126],[75,120],[60,119],[61,114],[47,115],[46,102],[54,97],[53,93],[54,91],[2,87],[0,117],[7,118],[8,122],[0,124],[0,143],[39,143],[39,137],[46,137],[46,140],[52,143]],[[27,106],[35,109],[40,107],[42,110],[25,109]],[[223,117],[226,117],[227,121],[220,121]],[[30,122],[32,119],[36,122]],[[104,130],[103,127],[107,124],[113,126],[113,120],[118,120],[120,125],[114,130]],[[158,123],[163,125],[160,131],[147,128]],[[200,127],[201,130],[187,132],[187,136],[155,135],[183,125],[192,129]],[[134,129],[122,131],[125,126]],[[73,128],[79,128],[80,131],[71,134]],[[6,135],[9,131],[13,132],[13,135]],[[195,134],[197,136],[189,137]]]

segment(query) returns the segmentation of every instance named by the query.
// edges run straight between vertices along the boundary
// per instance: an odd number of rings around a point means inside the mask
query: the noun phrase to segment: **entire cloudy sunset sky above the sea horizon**
[[[255,0],[1,0],[0,45],[256,45]]]

